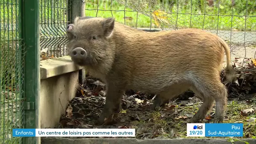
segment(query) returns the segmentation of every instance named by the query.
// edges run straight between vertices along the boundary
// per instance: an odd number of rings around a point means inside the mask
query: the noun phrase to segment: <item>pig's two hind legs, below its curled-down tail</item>
[[[213,123],[221,123],[224,119],[224,111],[227,106],[227,91],[225,86],[219,79],[216,80],[216,83],[211,81],[211,83],[201,84],[201,86],[197,85],[197,88],[195,86],[191,88],[197,96],[203,98],[203,104],[189,123],[197,123],[198,120],[204,119],[207,112],[211,109],[214,100],[216,101],[216,109]]]

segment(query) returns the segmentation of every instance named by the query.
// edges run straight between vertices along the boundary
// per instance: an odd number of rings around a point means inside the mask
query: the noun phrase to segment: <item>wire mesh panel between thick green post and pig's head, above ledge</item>
[[[65,27],[70,0],[40,0],[41,59],[67,55]]]

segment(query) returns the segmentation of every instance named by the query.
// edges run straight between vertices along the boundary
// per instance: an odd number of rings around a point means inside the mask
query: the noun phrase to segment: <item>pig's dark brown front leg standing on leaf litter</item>
[[[121,110],[121,99],[124,93],[124,86],[115,82],[109,82],[106,86],[106,103],[99,117],[98,125],[112,122],[114,113],[119,113]]]

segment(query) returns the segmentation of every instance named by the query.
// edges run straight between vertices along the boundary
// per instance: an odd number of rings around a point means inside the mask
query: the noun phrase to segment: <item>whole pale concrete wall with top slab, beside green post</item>
[[[40,61],[40,128],[54,128],[76,95],[79,70],[69,56]]]

